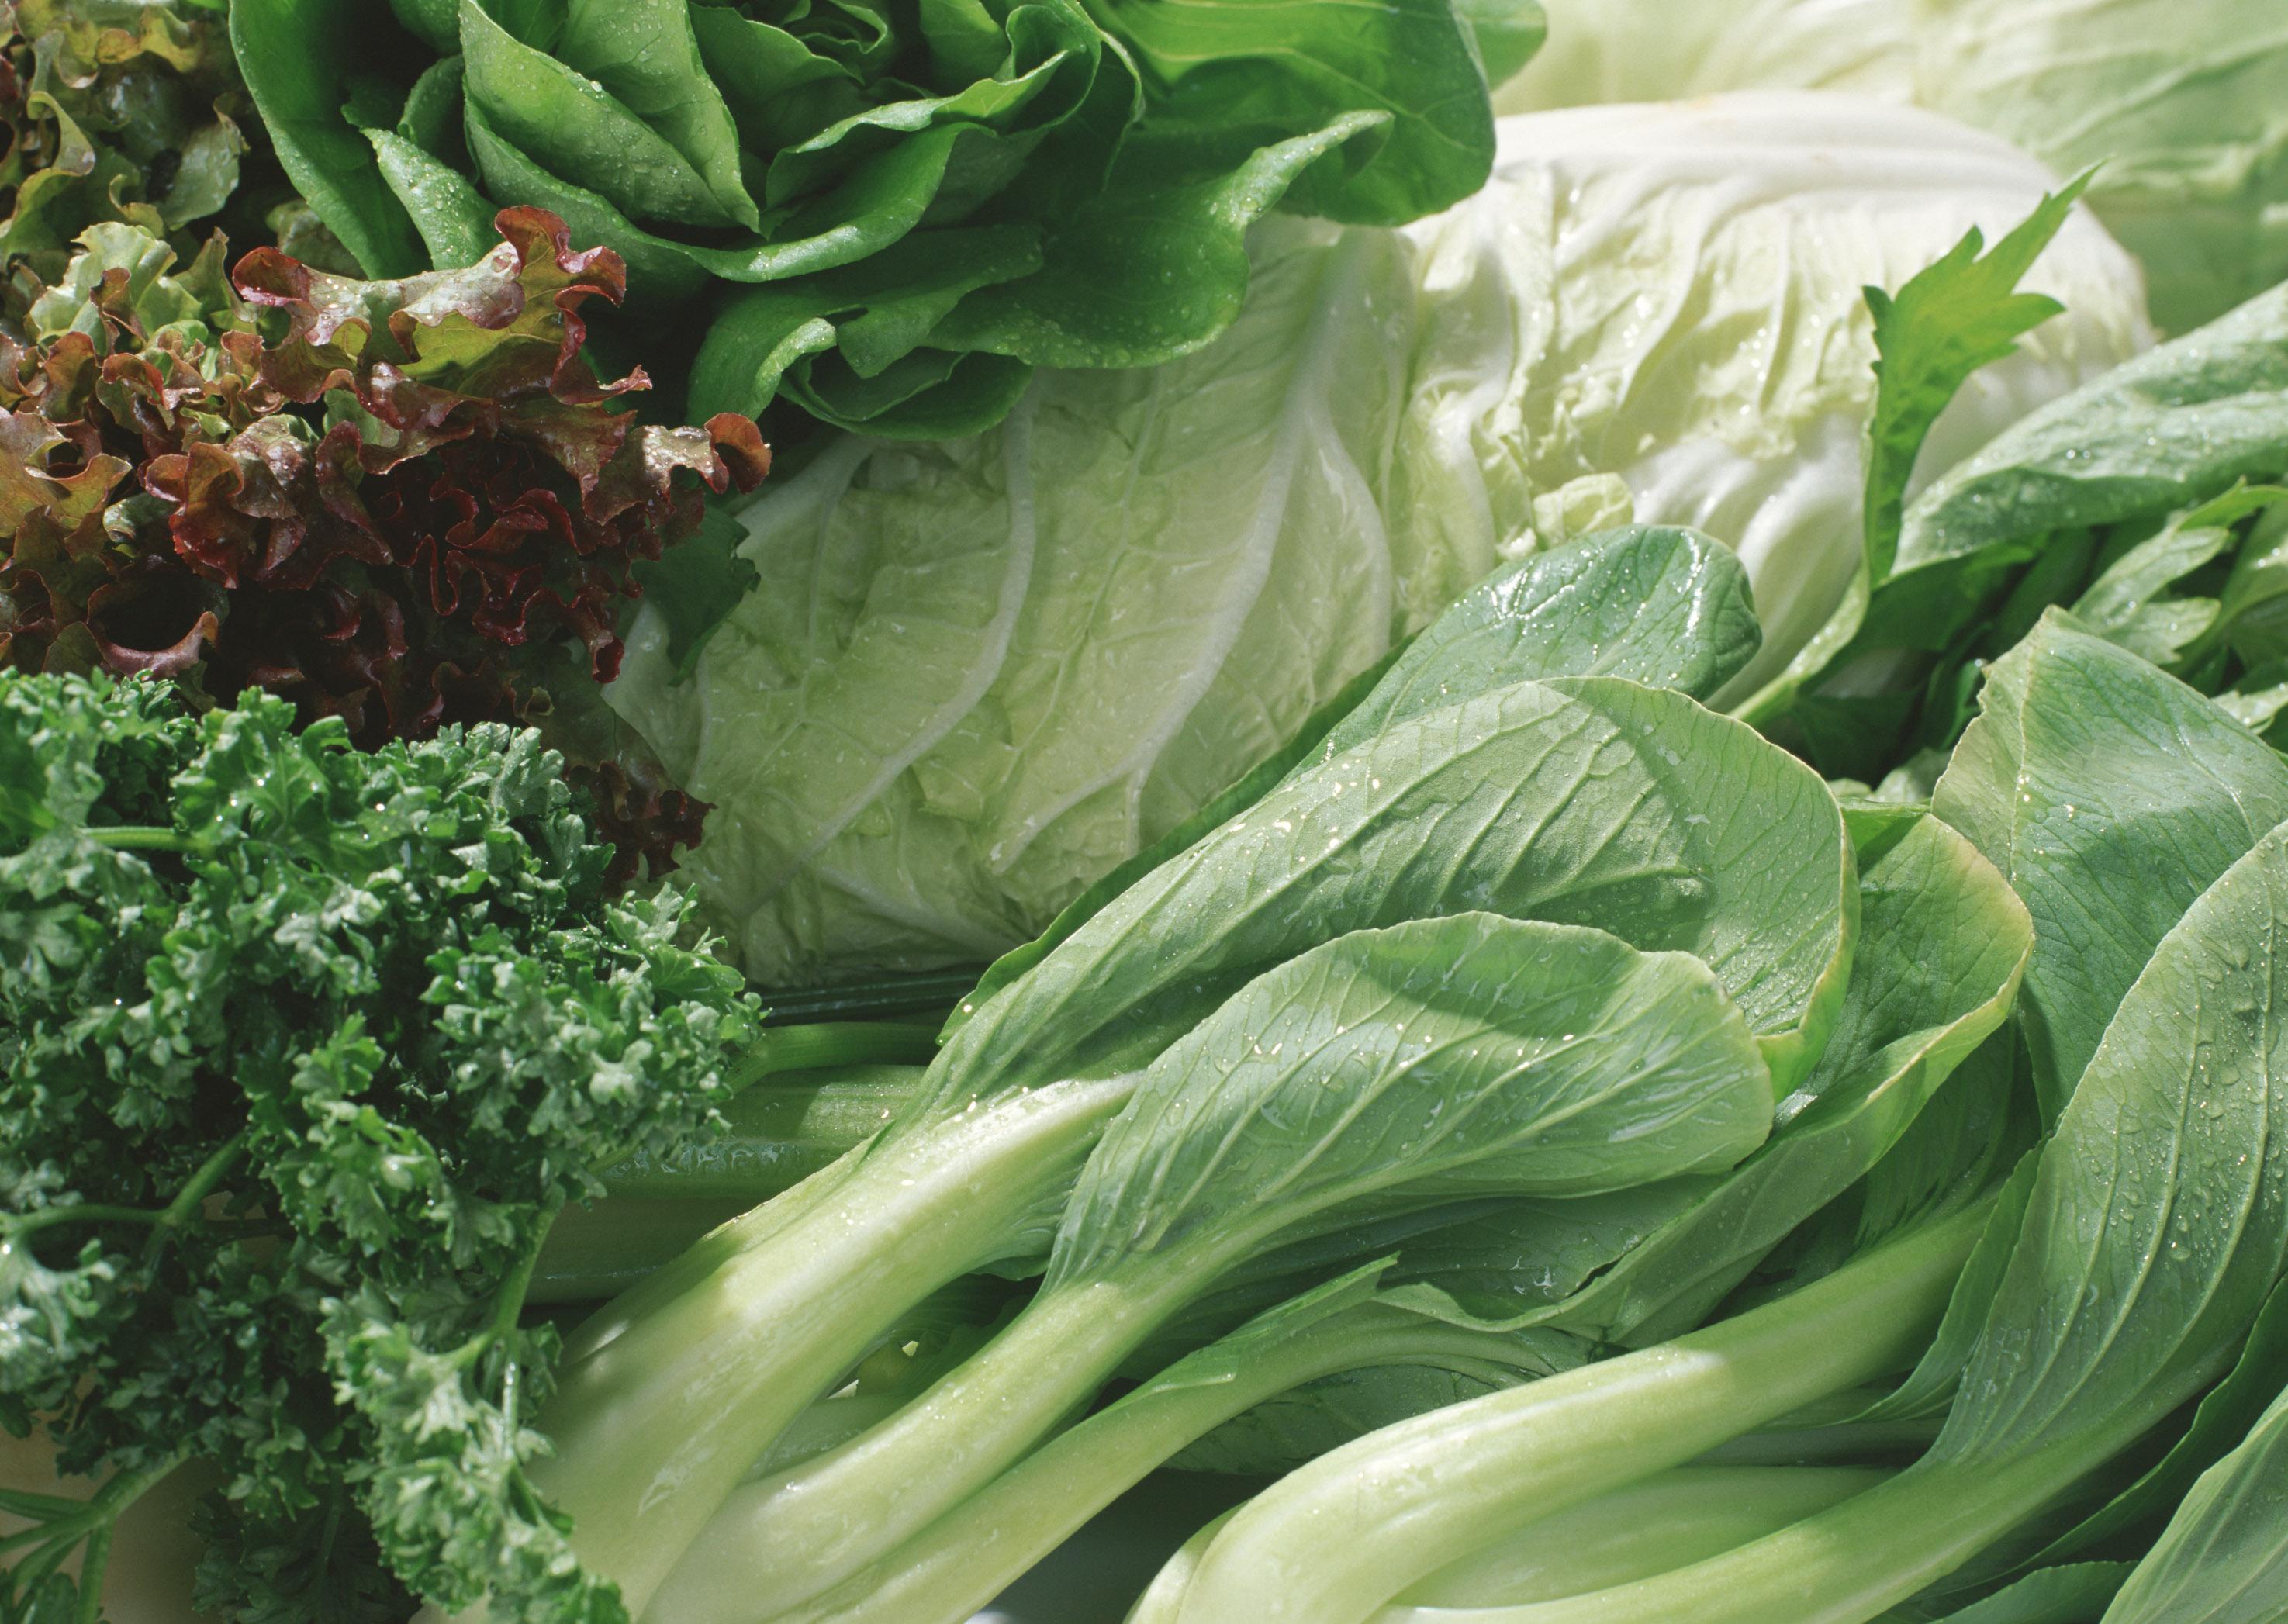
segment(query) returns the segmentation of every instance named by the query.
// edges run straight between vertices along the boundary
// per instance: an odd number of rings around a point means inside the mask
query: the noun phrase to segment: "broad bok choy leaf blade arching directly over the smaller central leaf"
[[[1739,723],[1613,677],[1517,684],[1297,773],[1133,885],[954,1034],[938,1109],[1142,1066],[1320,940],[1462,910],[1698,954],[1792,1089],[1856,901],[1835,803]],[[1128,1000],[1110,1029],[1103,986]]]

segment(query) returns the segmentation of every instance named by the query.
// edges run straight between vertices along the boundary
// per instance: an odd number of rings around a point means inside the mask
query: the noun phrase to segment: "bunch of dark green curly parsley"
[[[0,1498],[0,1615],[96,1617],[119,1512],[199,1459],[231,1617],[625,1617],[524,1478],[524,1283],[602,1167],[709,1125],[755,1006],[680,892],[606,899],[558,766],[0,675],[0,1423],[103,1482]]]

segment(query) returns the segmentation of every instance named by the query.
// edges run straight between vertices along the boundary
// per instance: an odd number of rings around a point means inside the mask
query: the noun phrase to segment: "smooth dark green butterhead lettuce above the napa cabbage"
[[[913,437],[993,425],[1032,366],[1208,343],[1281,201],[1398,224],[1469,197],[1480,50],[1510,66],[1540,37],[1533,0],[391,11],[231,14],[288,172],[368,274],[460,263],[496,206],[538,204],[645,300],[707,297],[707,412]]]

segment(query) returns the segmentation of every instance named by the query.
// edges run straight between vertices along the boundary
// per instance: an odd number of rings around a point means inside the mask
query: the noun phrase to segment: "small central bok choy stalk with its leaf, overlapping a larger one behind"
[[[849,1578],[1284,1233],[1435,1194],[1597,1194],[1723,1169],[1769,1128],[1769,1089],[1746,1018],[1695,956],[1487,913],[1334,938],[1151,1066],[1025,1313],[892,1420],[734,1503],[691,1553],[714,1581],[705,1599],[670,1581],[659,1615],[773,1617]]]

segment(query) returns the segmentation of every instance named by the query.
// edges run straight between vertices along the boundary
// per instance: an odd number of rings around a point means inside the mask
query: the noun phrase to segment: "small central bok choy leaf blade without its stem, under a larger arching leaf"
[[[1478,913],[1354,931],[1153,1061],[1066,1205],[1046,1290],[1201,1244],[1242,1256],[1377,1201],[1723,1169],[1764,1139],[1769,1089],[1686,954]]]

